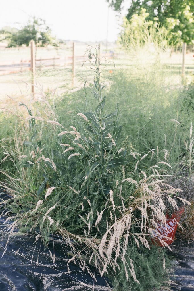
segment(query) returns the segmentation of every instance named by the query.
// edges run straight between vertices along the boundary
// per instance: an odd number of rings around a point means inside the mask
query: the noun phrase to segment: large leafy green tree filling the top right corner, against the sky
[[[124,0],[107,0],[116,11],[122,9]],[[146,21],[158,18],[159,26],[164,26],[171,35],[171,42],[194,43],[194,0],[132,0],[126,18],[140,15],[145,8]]]

